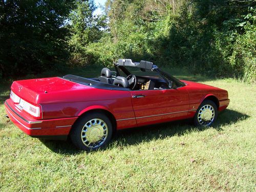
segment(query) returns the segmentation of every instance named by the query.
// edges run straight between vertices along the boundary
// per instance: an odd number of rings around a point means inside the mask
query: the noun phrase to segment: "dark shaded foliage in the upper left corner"
[[[72,2],[0,2],[0,74],[3,77],[38,73],[65,60],[67,30],[62,26]]]

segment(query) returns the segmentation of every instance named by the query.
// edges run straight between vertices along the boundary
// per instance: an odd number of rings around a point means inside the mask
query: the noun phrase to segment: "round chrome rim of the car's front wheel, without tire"
[[[214,109],[214,106],[210,104],[203,105],[197,115],[197,120],[199,124],[205,125],[205,126],[210,125],[214,121],[214,118],[215,118],[215,109]]]

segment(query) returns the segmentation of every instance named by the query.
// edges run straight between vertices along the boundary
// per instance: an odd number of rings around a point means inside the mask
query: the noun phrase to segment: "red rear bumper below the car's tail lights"
[[[33,119],[18,111],[12,100],[5,101],[5,109],[10,120],[27,135],[46,139],[65,139],[78,117],[58,119]]]

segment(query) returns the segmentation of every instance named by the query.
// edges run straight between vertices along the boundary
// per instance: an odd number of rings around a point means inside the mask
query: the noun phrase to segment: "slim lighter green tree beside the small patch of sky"
[[[71,34],[68,37],[68,44],[71,53],[70,64],[73,66],[83,66],[93,62],[92,57],[96,53],[90,52],[88,45],[97,42],[106,27],[106,17],[94,16],[95,9],[93,1],[79,0],[76,1],[75,9],[70,13],[70,24],[67,28]]]

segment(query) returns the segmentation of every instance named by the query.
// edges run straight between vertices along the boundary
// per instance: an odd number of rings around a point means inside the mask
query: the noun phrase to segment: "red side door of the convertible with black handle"
[[[138,126],[186,118],[188,113],[185,87],[131,91],[131,97]]]

